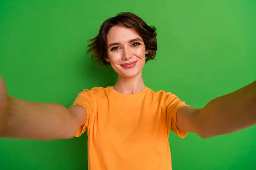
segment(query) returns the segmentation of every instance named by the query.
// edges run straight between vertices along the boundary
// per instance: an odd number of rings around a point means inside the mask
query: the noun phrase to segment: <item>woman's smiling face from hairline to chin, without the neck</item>
[[[113,26],[107,35],[107,62],[111,63],[116,73],[125,78],[135,77],[141,73],[145,65],[145,49],[143,39],[134,29]]]

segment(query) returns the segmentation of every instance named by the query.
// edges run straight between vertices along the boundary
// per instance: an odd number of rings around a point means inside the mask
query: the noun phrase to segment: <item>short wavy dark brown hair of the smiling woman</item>
[[[145,48],[148,50],[146,54],[146,62],[156,57],[157,51],[157,33],[154,26],[148,26],[144,20],[131,12],[122,12],[115,17],[105,20],[100,29],[99,34],[90,39],[87,54],[91,52],[93,60],[98,61],[100,64],[109,65],[110,63],[105,60],[108,57],[106,37],[109,29],[115,25],[122,25],[127,28],[133,28],[143,38]]]

